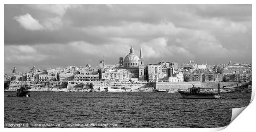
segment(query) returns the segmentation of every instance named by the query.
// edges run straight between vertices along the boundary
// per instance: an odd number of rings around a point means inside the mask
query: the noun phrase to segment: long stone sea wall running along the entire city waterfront
[[[24,82],[23,82],[24,83]],[[220,88],[225,87],[237,87],[240,84],[238,82],[44,82],[44,81],[30,81],[27,85],[31,87],[30,91],[54,91],[54,92],[88,92],[90,89],[99,89],[100,87],[132,87],[132,89],[143,89],[145,87],[154,87],[154,89],[188,89],[194,85],[195,87],[208,87],[217,88],[220,83]],[[16,91],[20,88],[21,81],[11,81],[9,88],[5,88],[5,91]],[[247,83],[241,83],[245,85]]]

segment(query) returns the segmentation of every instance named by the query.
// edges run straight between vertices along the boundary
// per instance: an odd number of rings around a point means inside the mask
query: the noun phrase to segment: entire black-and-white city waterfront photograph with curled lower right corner
[[[5,128],[226,127],[251,95],[252,5],[4,5]]]

